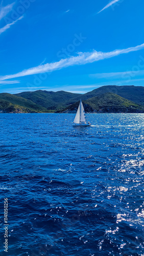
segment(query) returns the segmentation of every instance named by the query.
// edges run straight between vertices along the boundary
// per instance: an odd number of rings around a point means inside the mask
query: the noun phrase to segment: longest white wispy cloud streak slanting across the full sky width
[[[144,44],[135,46],[135,47],[130,47],[127,49],[114,50],[112,52],[97,52],[97,51],[93,50],[92,52],[79,53],[78,56],[72,56],[69,58],[61,59],[60,61],[57,61],[57,62],[46,63],[45,65],[40,65],[38,67],[23,70],[19,73],[13,74],[13,75],[1,76],[0,81],[6,80],[6,79],[11,79],[11,78],[13,79],[16,77],[29,76],[29,75],[34,75],[34,74],[46,73],[46,72],[53,72],[55,70],[60,70],[60,69],[66,68],[66,67],[74,66],[74,65],[85,65],[87,63],[92,63],[94,61],[112,58],[112,57],[118,56],[120,54],[139,51],[141,49],[144,49]]]

